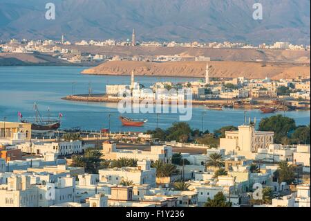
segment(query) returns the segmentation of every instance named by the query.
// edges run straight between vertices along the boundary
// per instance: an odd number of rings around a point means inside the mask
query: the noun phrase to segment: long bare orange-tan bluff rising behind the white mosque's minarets
[[[105,62],[82,71],[84,74],[136,76],[194,77],[205,76],[206,62]],[[273,62],[209,62],[210,77],[234,78],[295,78],[310,77],[310,64],[286,64]]]

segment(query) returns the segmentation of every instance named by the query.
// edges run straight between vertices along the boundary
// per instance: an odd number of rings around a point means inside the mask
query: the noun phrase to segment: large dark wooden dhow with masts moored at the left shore
[[[53,132],[57,130],[61,121],[60,118],[62,114],[59,114],[59,118],[55,118],[52,116],[41,116],[37,104],[34,105],[35,109],[35,117],[34,118],[23,118],[21,114],[19,115],[21,123],[31,123],[31,130],[34,133],[43,134],[46,132]],[[48,110],[50,112],[50,110]]]

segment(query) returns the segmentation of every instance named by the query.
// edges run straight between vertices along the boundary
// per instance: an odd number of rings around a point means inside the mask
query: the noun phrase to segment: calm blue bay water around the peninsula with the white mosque
[[[123,127],[118,120],[120,113],[114,103],[77,103],[61,98],[69,94],[103,94],[106,85],[129,84],[130,76],[88,76],[80,72],[84,67],[0,67],[0,121],[17,121],[17,113],[23,116],[33,116],[33,104],[36,102],[41,114],[47,114],[48,108],[55,116],[62,118],[62,128],[82,127],[83,130],[100,130],[109,127],[111,114],[111,131],[143,132],[156,128],[156,114],[126,114],[132,118],[147,118],[144,127]],[[193,78],[158,78],[136,77],[135,81],[145,87],[155,82],[185,82]],[[203,129],[211,132],[226,125],[241,125],[244,121],[243,109],[224,109],[222,112],[207,110],[205,107],[194,107],[191,121],[187,121],[194,129],[201,130],[202,112]],[[310,111],[277,112],[294,118],[296,125],[310,124]],[[258,109],[249,110],[247,118],[261,118],[272,114],[262,114]],[[158,127],[166,129],[172,123],[179,121],[177,114],[160,114]]]

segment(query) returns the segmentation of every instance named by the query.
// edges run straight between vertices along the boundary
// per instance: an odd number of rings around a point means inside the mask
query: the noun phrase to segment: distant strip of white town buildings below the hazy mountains
[[[0,53],[43,53],[52,55],[53,57],[70,62],[73,64],[87,62],[104,62],[117,60],[133,60],[133,61],[151,61],[151,62],[180,62],[180,61],[208,61],[210,58],[205,56],[189,55],[108,55],[101,53],[86,53],[79,51],[77,48],[68,48],[68,46],[133,46],[133,47],[153,47],[153,48],[252,48],[252,49],[276,49],[290,51],[310,51],[310,45],[295,45],[290,42],[275,42],[274,44],[260,44],[254,46],[243,42],[138,42],[135,37],[135,30],[131,39],[125,41],[117,41],[115,39],[106,39],[103,41],[82,39],[79,42],[70,42],[66,40],[66,36],[62,35],[59,40],[42,39],[11,39],[9,42],[0,42]],[[261,60],[257,60],[261,62]]]

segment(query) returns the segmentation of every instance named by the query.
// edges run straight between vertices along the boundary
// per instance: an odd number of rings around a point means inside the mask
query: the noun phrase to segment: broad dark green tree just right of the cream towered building
[[[259,123],[259,130],[273,131],[274,142],[281,143],[284,136],[296,129],[294,119],[282,116],[281,114],[270,116],[270,118],[263,118]]]

